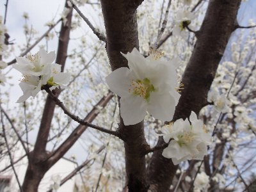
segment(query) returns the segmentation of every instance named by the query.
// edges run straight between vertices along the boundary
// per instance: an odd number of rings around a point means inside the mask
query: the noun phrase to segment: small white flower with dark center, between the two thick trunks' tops
[[[175,19],[175,26],[173,28],[173,35],[182,36],[186,38],[188,36],[188,31],[186,26],[189,26],[191,20],[195,19],[195,15],[188,10],[179,10]]]

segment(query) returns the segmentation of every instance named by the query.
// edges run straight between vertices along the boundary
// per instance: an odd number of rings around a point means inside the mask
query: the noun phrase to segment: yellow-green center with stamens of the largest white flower
[[[137,79],[131,81],[131,88],[129,88],[129,92],[134,95],[138,95],[143,97],[147,102],[150,99],[150,93],[156,92],[156,88],[148,78],[144,78],[143,80]]]

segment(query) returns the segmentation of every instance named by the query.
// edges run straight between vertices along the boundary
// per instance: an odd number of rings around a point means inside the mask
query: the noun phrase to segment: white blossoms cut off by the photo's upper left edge
[[[3,17],[0,16],[0,56],[3,56],[4,52],[8,49],[8,46],[4,44],[5,36],[4,33],[7,32],[6,27],[3,24]],[[7,63],[0,61],[0,84],[4,85],[6,82],[6,77],[4,76],[2,70],[7,67]]]

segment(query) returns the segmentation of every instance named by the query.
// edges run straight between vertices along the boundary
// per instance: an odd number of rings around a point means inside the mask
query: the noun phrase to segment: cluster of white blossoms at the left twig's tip
[[[24,102],[30,96],[35,98],[46,84],[50,90],[59,86],[65,88],[65,84],[70,81],[70,74],[61,72],[61,65],[52,63],[55,57],[55,52],[47,53],[40,49],[35,55],[16,58],[17,64],[13,65],[13,68],[19,70],[23,77],[19,83],[23,95],[17,102]]]

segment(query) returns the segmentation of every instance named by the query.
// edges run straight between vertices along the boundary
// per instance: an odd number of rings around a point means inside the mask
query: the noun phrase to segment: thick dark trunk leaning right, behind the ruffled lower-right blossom
[[[228,39],[236,26],[236,15],[241,0],[211,0],[204,22],[198,31],[195,49],[182,77],[182,90],[173,120],[188,118],[191,111],[199,113],[207,103],[218,64]],[[158,144],[163,144],[160,138]],[[152,191],[168,191],[177,166],[172,159],[164,158],[163,150],[154,152],[147,173]]]

